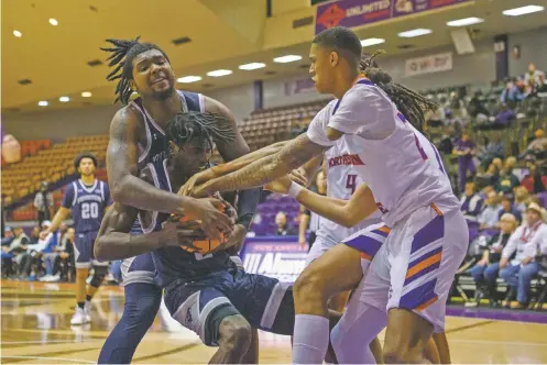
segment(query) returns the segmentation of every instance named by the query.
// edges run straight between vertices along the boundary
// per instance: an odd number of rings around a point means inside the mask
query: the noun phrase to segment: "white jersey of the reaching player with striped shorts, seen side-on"
[[[321,121],[322,129],[317,128]],[[431,203],[444,212],[459,209],[435,146],[370,80],[359,80],[336,102],[328,123],[315,124],[308,130],[315,143],[337,144],[327,137],[327,126],[358,139],[360,164],[353,168],[370,186],[389,226]]]

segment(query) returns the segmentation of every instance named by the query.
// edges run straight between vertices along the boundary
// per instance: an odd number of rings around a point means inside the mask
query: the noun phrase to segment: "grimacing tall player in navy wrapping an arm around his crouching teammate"
[[[108,79],[118,81],[116,101],[123,104],[110,124],[107,150],[107,170],[114,201],[145,211],[189,214],[200,222],[207,236],[215,239],[221,232],[230,233],[227,250],[236,254],[250,228],[260,189],[238,193],[236,224],[217,207],[217,199],[182,197],[140,178],[150,163],[163,161],[168,153],[167,122],[180,112],[210,112],[220,115],[211,120],[210,136],[221,157],[231,161],[249,153],[249,147],[237,129],[231,111],[219,101],[204,95],[175,89],[175,75],[168,56],[157,45],[131,41],[108,40]],[[133,92],[138,98],[131,99]],[[220,139],[219,135],[231,135]],[[152,222],[151,222],[152,224]],[[152,226],[143,229],[144,233]],[[129,363],[134,350],[152,324],[153,313],[161,303],[161,288],[154,281],[154,263],[150,254],[124,261],[125,316],[102,349],[99,362]],[[144,313],[144,314],[143,314]],[[150,314],[152,313],[152,314]],[[128,336],[131,333],[131,336]]]

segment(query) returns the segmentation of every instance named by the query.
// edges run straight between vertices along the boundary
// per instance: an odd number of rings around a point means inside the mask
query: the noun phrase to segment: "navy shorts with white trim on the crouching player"
[[[167,286],[164,300],[171,316],[209,346],[217,345],[221,319],[234,314],[253,328],[293,334],[292,284],[267,276],[233,268],[194,281],[178,279]]]

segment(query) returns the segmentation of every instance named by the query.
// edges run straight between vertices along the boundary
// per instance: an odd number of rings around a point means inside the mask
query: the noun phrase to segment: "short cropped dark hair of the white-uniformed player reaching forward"
[[[317,34],[314,42],[322,47],[331,48],[357,67],[361,59],[361,41],[353,31],[343,26],[332,26]]]

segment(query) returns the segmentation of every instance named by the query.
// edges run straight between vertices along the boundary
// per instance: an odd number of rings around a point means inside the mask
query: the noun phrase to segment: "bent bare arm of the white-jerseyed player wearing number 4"
[[[376,201],[367,185],[360,185],[350,200],[325,197],[303,187],[297,190],[291,188],[296,184],[284,177],[266,185],[266,189],[287,193],[289,189],[296,191],[293,197],[304,207],[321,217],[343,226],[351,228],[378,210]]]

